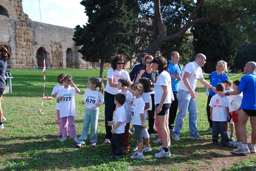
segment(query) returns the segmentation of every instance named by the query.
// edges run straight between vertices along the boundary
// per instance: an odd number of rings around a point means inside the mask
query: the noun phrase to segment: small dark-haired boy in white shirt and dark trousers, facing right
[[[114,114],[114,119],[112,121],[108,121],[108,126],[113,124],[113,128],[111,129],[112,141],[111,141],[111,151],[108,154],[113,155],[113,159],[124,157],[124,132],[126,125],[126,111],[125,106],[125,95],[118,93],[115,95],[115,105],[117,106],[116,112]]]

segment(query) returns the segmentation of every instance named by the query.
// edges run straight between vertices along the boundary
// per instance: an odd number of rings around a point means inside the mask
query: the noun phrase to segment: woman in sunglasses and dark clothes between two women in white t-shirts
[[[154,70],[152,60],[154,57],[151,55],[147,55],[145,58],[145,64],[144,66],[138,71],[137,78],[135,80],[135,83],[138,83],[141,77],[146,77],[149,80],[151,80],[151,86],[149,89],[149,94],[151,96],[151,106],[148,110],[148,134],[151,138],[154,138],[154,112],[155,112],[155,105],[154,105],[154,93],[151,93],[154,91],[154,84],[157,82],[158,79],[158,73]]]

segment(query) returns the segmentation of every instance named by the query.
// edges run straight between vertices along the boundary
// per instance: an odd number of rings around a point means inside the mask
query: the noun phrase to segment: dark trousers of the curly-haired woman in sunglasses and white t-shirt
[[[105,138],[111,139],[112,126],[108,126],[108,121],[113,120],[113,112],[116,109],[116,105],[114,103],[115,95],[110,94],[108,92],[104,92],[104,102],[105,102],[105,128],[106,128],[106,136]]]

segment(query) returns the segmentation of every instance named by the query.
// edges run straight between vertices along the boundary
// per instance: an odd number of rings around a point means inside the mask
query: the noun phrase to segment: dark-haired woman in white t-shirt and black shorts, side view
[[[157,125],[160,128],[163,149],[160,150],[155,157],[170,157],[171,153],[168,149],[170,131],[168,126],[168,111],[172,103],[172,84],[171,76],[169,74],[169,69],[167,61],[164,57],[158,56],[153,60],[153,66],[156,71],[158,71],[159,77],[155,83],[155,105],[156,105],[156,117]]]

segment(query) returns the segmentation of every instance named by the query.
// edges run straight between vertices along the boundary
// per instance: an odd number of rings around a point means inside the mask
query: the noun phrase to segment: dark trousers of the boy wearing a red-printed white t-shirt
[[[218,122],[212,121],[212,141],[218,141],[218,134],[221,133],[221,143],[227,144],[229,142],[227,137],[227,121]]]

